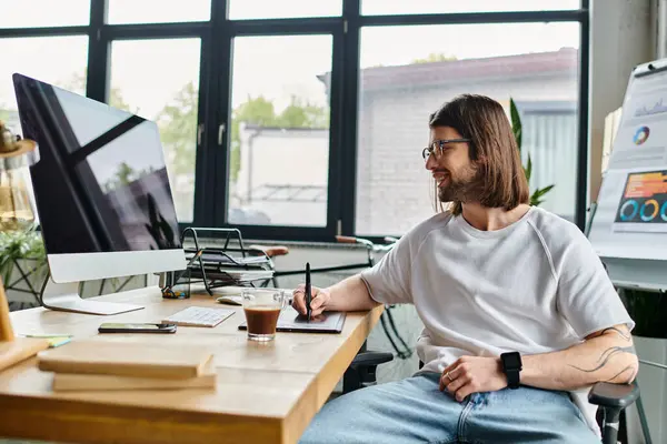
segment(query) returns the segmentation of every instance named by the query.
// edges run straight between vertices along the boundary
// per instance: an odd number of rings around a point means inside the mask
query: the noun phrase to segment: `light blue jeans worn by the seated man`
[[[522,386],[459,403],[438,380],[421,374],[332,400],[300,443],[600,443],[567,392]]]

